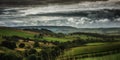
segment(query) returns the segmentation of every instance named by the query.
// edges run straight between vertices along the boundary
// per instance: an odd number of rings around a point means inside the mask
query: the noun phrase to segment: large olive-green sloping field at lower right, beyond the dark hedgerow
[[[73,56],[73,55],[79,55],[79,54],[85,54],[85,53],[93,53],[93,52],[101,52],[101,51],[109,51],[119,48],[120,42],[115,43],[106,43],[103,45],[88,45],[88,46],[81,46],[81,47],[75,47],[71,48],[63,54],[63,56]]]

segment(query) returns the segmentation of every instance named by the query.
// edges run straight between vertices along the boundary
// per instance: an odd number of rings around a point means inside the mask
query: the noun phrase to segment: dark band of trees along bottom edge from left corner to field
[[[62,52],[59,47],[44,47],[40,52],[36,49],[26,49],[24,52],[0,53],[0,60],[55,60]]]

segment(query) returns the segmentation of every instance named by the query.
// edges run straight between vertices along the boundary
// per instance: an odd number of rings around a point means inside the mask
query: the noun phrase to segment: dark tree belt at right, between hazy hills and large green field
[[[119,40],[116,40],[116,38],[119,38],[120,35],[104,35],[104,34],[98,34],[98,33],[84,33],[84,32],[75,32],[71,33],[69,35],[85,35],[87,37],[86,42],[116,42]],[[94,37],[94,39],[89,38]]]

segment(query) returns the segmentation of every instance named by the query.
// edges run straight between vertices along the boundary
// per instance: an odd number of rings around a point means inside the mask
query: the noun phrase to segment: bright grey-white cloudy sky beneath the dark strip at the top
[[[0,26],[120,27],[120,0],[2,7]]]

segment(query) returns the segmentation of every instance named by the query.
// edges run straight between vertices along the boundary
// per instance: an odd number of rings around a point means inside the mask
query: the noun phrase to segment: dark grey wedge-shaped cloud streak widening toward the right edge
[[[73,11],[73,12],[56,12],[56,13],[44,13],[35,14],[30,16],[63,16],[63,17],[88,17],[88,18],[108,18],[114,19],[120,17],[120,9],[100,9],[92,11]]]

